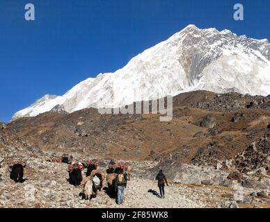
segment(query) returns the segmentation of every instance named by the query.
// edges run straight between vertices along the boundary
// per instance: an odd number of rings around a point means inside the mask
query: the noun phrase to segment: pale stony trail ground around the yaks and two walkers
[[[12,153],[10,155],[14,157]],[[83,188],[74,187],[67,182],[67,164],[46,162],[44,157],[29,155],[23,160],[27,162],[24,177],[29,179],[23,184],[10,180],[6,164],[0,168],[0,207],[219,207],[224,201],[232,203],[235,193],[232,187],[171,184],[166,187],[166,198],[161,199],[148,192],[150,189],[159,191],[157,182],[150,178],[145,179],[145,171],[149,171],[157,163],[132,162],[132,180],[127,185],[125,202],[118,206],[116,200],[110,198],[104,190],[90,201],[82,200],[79,193]],[[249,194],[251,191],[247,191],[247,199],[251,199]],[[265,202],[258,198],[251,201],[251,207]]]

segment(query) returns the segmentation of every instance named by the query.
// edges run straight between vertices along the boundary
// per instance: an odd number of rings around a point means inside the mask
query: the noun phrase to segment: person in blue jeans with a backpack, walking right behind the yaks
[[[125,196],[125,188],[127,187],[127,173],[124,173],[124,166],[120,165],[118,175],[116,176],[116,191],[117,191],[117,204],[120,205]]]

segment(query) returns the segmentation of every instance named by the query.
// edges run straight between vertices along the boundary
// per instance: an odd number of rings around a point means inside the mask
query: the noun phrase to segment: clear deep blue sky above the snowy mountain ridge
[[[33,3],[35,21],[24,20]],[[233,6],[244,4],[244,22]],[[0,0],[0,121],[64,94],[189,24],[270,40],[269,0]]]

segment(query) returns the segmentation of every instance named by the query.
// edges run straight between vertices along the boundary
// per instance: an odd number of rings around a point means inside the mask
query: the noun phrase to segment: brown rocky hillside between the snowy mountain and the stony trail
[[[229,160],[269,132],[270,98],[238,93],[189,92],[173,98],[173,120],[159,114],[46,112],[8,128],[43,151],[76,151],[124,160],[212,165]]]

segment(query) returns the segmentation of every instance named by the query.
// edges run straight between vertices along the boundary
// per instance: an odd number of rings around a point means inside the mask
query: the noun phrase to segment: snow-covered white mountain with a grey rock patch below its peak
[[[145,50],[114,73],[79,83],[63,96],[45,96],[19,117],[33,117],[57,105],[61,112],[84,108],[118,108],[134,101],[182,92],[270,94],[270,44],[228,30],[190,25]]]

